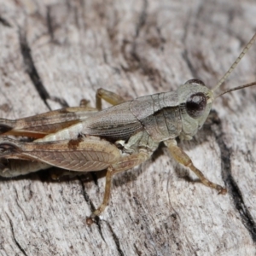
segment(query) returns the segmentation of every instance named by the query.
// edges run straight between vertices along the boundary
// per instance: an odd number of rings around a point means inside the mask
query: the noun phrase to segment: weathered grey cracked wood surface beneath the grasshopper
[[[82,98],[93,105],[99,87],[131,99],[191,78],[214,86],[253,36],[255,12],[249,0],[1,0],[0,116]],[[255,80],[255,52],[254,45],[225,88]],[[255,255],[255,98],[251,88],[218,99],[218,116],[180,143],[227,195],[194,183],[163,147],[114,179],[110,205],[90,227],[102,175],[1,179],[0,254]]]

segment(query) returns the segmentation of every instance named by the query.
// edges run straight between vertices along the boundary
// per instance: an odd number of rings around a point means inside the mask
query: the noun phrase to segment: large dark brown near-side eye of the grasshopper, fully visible
[[[207,106],[207,96],[202,92],[197,92],[189,96],[186,104],[187,113],[192,118],[201,116]]]

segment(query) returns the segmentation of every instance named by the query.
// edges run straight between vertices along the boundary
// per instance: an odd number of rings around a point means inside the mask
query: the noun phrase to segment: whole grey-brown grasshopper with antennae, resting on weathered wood
[[[99,89],[96,108],[85,105],[23,119],[0,119],[0,176],[14,177],[51,166],[76,172],[107,169],[104,198],[101,206],[91,213],[89,220],[92,220],[108,206],[113,175],[148,160],[163,142],[172,157],[195,172],[201,183],[216,189],[218,194],[226,194],[224,187],[209,181],[194,166],[177,146],[176,138],[190,140],[195,136],[218,96],[256,84],[244,84],[214,95],[255,39],[256,33],[212,90],[201,80],[191,79],[176,91],[125,102],[121,96]],[[113,106],[102,110],[102,100]]]

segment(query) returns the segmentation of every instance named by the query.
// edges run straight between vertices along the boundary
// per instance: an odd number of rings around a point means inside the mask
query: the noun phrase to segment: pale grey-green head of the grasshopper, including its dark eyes
[[[199,79],[191,79],[177,89],[182,115],[181,139],[189,140],[205,123],[212,108],[212,90]]]

